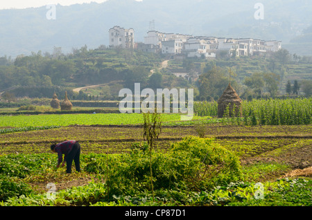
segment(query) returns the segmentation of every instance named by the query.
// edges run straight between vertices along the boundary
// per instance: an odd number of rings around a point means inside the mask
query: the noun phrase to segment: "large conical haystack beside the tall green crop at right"
[[[227,89],[223,92],[218,100],[218,118],[223,118],[227,106],[229,106],[228,116],[241,117],[241,98],[237,95],[235,89],[231,86],[231,83],[227,86]],[[233,112],[233,107],[235,107]]]

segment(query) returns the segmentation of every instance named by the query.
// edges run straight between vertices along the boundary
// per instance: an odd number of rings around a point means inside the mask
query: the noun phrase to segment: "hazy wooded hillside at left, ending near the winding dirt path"
[[[15,60],[0,58],[0,93],[12,89],[15,95],[50,97],[53,91],[62,91],[92,84],[114,84],[132,88],[135,82],[148,85],[152,68],[162,62],[160,55],[128,51],[126,49],[82,47],[69,55],[54,51],[53,55],[33,53],[19,56]],[[114,93],[117,93],[114,91]],[[117,93],[118,94],[118,93]]]

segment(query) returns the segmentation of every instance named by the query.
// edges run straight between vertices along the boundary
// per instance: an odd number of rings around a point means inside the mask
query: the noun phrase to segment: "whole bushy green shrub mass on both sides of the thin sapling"
[[[150,158],[132,149],[131,154],[88,159],[85,170],[103,176],[109,196],[150,190]],[[241,178],[239,158],[211,138],[184,138],[168,152],[153,152],[151,164],[154,190],[207,190]]]

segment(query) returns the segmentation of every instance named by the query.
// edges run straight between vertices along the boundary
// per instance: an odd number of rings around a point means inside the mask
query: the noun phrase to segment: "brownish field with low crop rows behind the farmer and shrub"
[[[222,126],[207,125],[206,137],[216,138],[220,145],[250,158],[284,147],[310,146],[311,125]],[[0,135],[0,154],[46,153],[52,143],[79,140],[83,154],[129,152],[133,143],[143,142],[141,125],[71,125],[56,129],[15,132]],[[167,149],[186,136],[198,136],[194,126],[164,126],[157,149]],[[311,156],[312,157],[312,156]]]

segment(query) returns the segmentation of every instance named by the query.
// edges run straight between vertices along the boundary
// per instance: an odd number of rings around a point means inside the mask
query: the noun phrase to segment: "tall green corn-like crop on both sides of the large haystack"
[[[242,103],[244,125],[310,125],[312,98],[244,100]],[[197,116],[217,116],[217,102],[196,102]]]

